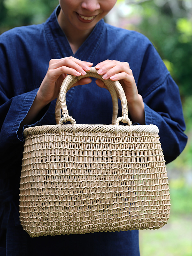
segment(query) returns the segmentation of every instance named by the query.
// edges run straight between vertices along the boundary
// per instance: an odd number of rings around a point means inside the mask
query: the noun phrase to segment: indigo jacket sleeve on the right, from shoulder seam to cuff
[[[169,163],[185,148],[186,127],[179,88],[152,44],[146,51],[139,83],[146,124],[158,126],[164,158]]]

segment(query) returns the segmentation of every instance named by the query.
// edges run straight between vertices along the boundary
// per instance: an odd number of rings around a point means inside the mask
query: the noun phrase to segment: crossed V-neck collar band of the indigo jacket
[[[100,20],[96,24],[91,34],[74,54],[65,33],[58,23],[57,14],[59,12],[60,6],[55,9],[49,19],[44,23],[45,34],[55,54],[55,58],[60,59],[73,56],[80,60],[92,62],[92,58],[97,52],[104,36],[104,20]]]

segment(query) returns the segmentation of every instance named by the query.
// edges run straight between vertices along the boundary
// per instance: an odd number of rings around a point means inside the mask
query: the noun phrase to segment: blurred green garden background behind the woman
[[[57,4],[58,0],[0,0],[0,34],[44,22]],[[159,230],[140,231],[140,255],[192,256],[192,0],[118,0],[105,20],[152,41],[180,88],[187,126],[186,148],[167,165],[170,219]]]

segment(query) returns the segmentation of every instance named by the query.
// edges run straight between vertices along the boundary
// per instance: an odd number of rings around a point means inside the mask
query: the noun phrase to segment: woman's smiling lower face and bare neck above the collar
[[[58,22],[67,35],[73,53],[115,3],[116,0],[60,0],[61,11],[58,15]]]

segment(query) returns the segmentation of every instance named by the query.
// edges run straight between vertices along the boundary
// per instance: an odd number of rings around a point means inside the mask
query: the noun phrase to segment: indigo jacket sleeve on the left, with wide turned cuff
[[[6,43],[6,40],[4,41]],[[19,64],[16,61],[14,61],[15,68],[10,68],[13,65],[12,56],[8,58],[5,43],[0,42],[1,177],[2,175],[10,176],[12,172],[21,170],[23,129],[21,128],[19,132],[19,127],[27,115],[38,90],[38,88],[31,91],[28,88],[26,89],[25,84],[20,79]],[[34,124],[31,125],[41,125],[46,111],[47,108],[40,113]]]

